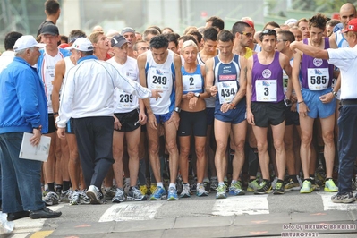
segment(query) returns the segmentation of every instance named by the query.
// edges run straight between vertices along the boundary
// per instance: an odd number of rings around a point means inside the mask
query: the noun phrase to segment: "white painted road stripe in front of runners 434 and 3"
[[[216,200],[212,214],[218,216],[269,214],[267,195],[243,195]]]

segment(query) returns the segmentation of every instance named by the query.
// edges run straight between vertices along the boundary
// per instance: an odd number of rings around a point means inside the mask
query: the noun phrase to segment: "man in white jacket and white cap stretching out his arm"
[[[136,81],[123,77],[115,67],[93,55],[88,38],[78,38],[72,45],[77,61],[66,75],[64,93],[56,123],[57,134],[64,139],[65,124],[72,117],[84,180],[89,189],[90,203],[101,203],[99,190],[106,173],[114,163],[112,153],[115,88],[139,98],[161,98],[160,91],[149,90]]]

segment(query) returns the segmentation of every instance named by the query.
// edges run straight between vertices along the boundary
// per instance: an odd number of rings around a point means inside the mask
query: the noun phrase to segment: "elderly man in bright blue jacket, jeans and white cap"
[[[37,146],[48,127],[47,99],[42,81],[31,65],[38,61],[38,44],[22,36],[13,47],[15,57],[0,75],[0,147],[3,166],[3,212],[12,219],[60,217],[45,206],[41,194],[41,166],[37,160],[19,158],[23,132],[33,133]],[[30,211],[30,212],[29,212]]]

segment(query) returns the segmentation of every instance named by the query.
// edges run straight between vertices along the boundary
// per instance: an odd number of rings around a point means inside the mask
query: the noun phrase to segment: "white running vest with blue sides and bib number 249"
[[[176,95],[174,90],[174,52],[168,50],[166,62],[164,64],[157,64],[151,51],[148,51],[145,73],[148,89],[163,91],[161,93],[161,98],[158,98],[157,100],[155,98],[150,98],[152,112],[157,115],[173,112]]]

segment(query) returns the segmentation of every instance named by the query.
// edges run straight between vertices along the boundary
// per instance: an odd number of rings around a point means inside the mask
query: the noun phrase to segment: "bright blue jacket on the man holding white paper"
[[[38,72],[21,57],[14,57],[0,74],[0,133],[48,130],[47,98]]]

